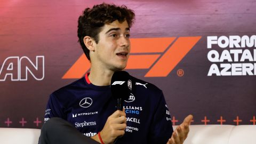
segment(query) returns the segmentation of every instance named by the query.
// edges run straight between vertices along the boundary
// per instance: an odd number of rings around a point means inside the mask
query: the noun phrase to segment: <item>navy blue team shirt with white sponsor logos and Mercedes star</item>
[[[116,111],[110,86],[96,86],[85,77],[50,95],[45,110],[46,122],[60,117],[78,131],[92,137],[101,131],[107,118]],[[124,101],[126,129],[116,143],[166,143],[173,133],[171,116],[163,92],[153,84],[131,76],[135,83]]]

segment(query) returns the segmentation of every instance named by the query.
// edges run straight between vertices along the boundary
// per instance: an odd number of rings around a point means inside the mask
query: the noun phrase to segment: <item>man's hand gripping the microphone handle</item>
[[[126,129],[126,115],[121,110],[116,110],[110,115],[105,123],[103,129],[100,131],[100,136],[105,144],[113,143],[117,137],[124,135]],[[99,141],[98,134],[94,135],[92,139]]]

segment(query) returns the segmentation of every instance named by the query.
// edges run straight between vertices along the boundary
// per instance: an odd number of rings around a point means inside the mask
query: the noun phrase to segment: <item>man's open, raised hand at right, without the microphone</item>
[[[188,115],[182,124],[177,126],[177,128],[172,133],[172,137],[167,141],[167,144],[182,144],[188,137],[189,125],[193,119],[192,115]]]

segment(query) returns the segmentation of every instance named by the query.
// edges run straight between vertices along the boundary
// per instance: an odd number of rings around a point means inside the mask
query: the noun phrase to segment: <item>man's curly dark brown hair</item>
[[[94,5],[92,9],[86,8],[83,11],[83,14],[78,18],[77,36],[79,38],[78,42],[81,44],[87,59],[90,60],[90,51],[84,44],[85,36],[92,37],[94,41],[98,43],[98,34],[100,33],[101,27],[103,27],[106,23],[111,23],[115,20],[124,22],[126,20],[128,26],[131,27],[134,18],[134,12],[127,9],[125,5],[116,6],[114,4],[110,5],[102,3],[99,5]]]

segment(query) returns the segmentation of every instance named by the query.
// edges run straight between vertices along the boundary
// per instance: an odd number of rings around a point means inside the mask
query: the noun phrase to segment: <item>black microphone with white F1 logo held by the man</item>
[[[123,110],[124,100],[129,98],[132,91],[132,81],[126,71],[116,71],[111,78],[111,94],[117,99],[117,110]]]

